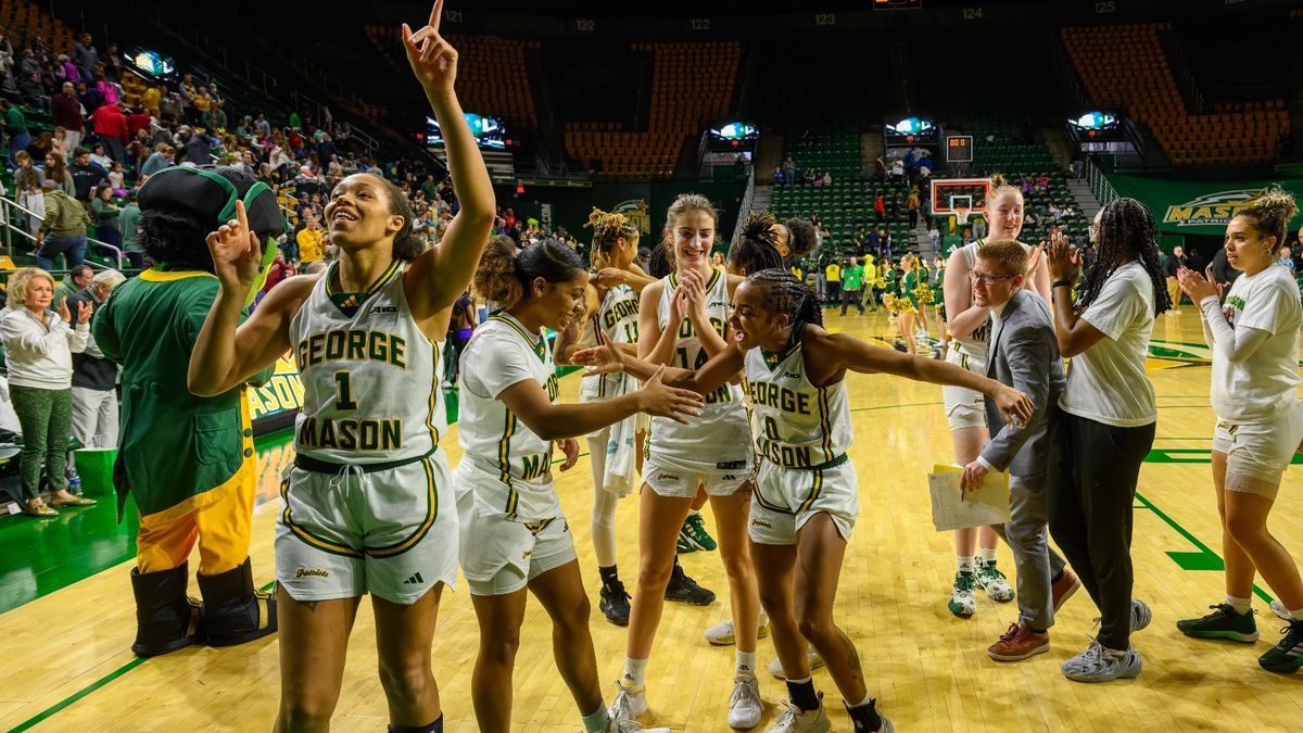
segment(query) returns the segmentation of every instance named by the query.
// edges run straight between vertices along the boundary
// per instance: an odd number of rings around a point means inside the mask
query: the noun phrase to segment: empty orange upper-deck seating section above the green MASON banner
[[[1152,130],[1177,164],[1261,163],[1289,129],[1283,99],[1224,103],[1207,115],[1186,110],[1160,31],[1170,23],[1063,29],[1076,72],[1100,108],[1124,110]]]

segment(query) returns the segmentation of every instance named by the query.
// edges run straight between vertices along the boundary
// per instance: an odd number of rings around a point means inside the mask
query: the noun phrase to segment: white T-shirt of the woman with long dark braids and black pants
[[[1153,283],[1140,262],[1118,267],[1104,282],[1098,297],[1081,313],[1104,338],[1072,357],[1067,389],[1059,396],[1065,412],[1118,428],[1158,420],[1153,385],[1144,372],[1153,299]]]

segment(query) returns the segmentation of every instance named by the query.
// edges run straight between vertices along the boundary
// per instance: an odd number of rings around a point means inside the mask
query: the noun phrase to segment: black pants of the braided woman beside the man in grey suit
[[[1110,650],[1131,644],[1131,505],[1154,426],[1050,412],[1050,535],[1100,609],[1098,642]]]

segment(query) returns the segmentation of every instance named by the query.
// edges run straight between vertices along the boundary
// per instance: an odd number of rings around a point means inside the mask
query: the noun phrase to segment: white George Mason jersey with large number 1
[[[431,453],[447,430],[439,389],[442,344],[412,317],[401,261],[360,295],[348,316],[335,304],[331,265],[289,321],[304,383],[294,450],[335,463],[387,463]]]

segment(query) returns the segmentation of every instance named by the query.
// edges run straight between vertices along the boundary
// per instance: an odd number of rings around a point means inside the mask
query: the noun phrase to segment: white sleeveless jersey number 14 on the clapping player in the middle
[[[665,292],[657,309],[657,322],[662,329],[678,327],[679,342],[671,366],[700,369],[710,360],[701,339],[689,318],[681,323],[670,323],[670,308],[679,290],[675,274],[662,279]],[[715,333],[724,338],[724,323],[728,320],[728,278],[719,270],[713,270],[706,283],[706,316]],[[726,383],[705,398],[701,417],[683,425],[668,417],[652,419],[650,454],[671,459],[688,460],[714,468],[741,468],[751,464],[751,426],[747,424],[747,408],[741,402],[741,386]]]

